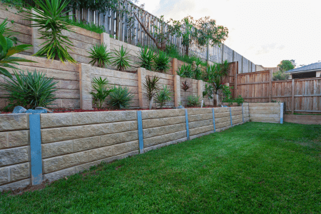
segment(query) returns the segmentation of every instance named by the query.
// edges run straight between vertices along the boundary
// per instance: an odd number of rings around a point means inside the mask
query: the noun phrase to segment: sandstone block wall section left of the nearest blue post
[[[0,192],[30,183],[29,115],[0,114]]]

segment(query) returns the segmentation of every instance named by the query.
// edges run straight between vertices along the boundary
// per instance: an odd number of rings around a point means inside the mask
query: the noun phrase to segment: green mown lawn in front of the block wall
[[[321,126],[245,123],[0,195],[0,213],[321,213]]]

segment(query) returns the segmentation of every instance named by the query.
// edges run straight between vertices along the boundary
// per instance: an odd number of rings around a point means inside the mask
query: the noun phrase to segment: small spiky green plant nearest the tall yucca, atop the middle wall
[[[89,62],[92,66],[97,63],[98,67],[106,68],[106,66],[111,63],[111,52],[107,51],[106,44],[93,46],[93,49],[91,49],[88,54],[90,54],[88,57],[92,58],[92,60]]]

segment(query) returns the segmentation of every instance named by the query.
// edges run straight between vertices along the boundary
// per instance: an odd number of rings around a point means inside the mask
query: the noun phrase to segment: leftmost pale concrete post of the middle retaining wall
[[[93,101],[91,96],[91,66],[86,63],[79,64],[79,89],[80,107],[83,110],[92,110]]]

